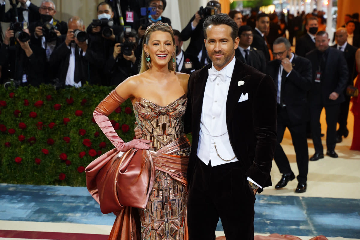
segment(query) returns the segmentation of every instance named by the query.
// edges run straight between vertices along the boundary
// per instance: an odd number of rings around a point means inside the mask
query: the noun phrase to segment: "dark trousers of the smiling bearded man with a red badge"
[[[312,142],[314,143],[315,153],[323,153],[323,144],[321,143],[321,110],[325,107],[326,113],[326,146],[328,151],[335,150],[336,145],[336,122],[339,115],[340,104],[327,105],[310,103],[310,123]]]

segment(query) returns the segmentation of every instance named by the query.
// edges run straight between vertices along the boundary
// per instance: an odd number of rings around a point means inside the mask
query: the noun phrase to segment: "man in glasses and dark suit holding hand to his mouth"
[[[274,160],[282,173],[282,178],[275,189],[285,187],[288,181],[295,178],[291,171],[289,160],[280,143],[283,140],[285,128],[288,128],[296,153],[296,163],[299,170],[296,193],[306,191],[307,171],[309,168],[309,151],[307,149],[306,122],[309,121],[309,105],[307,92],[312,83],[311,63],[308,59],[291,52],[291,44],[284,37],[274,41],[273,54],[275,60],[267,64],[269,74],[278,90],[278,121],[277,141]]]

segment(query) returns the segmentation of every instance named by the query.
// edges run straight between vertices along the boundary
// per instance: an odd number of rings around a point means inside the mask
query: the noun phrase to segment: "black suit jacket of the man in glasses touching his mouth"
[[[309,120],[309,105],[307,92],[312,84],[312,70],[309,59],[294,55],[292,60],[292,71],[289,76],[283,71],[280,96],[286,105],[290,121],[293,124],[306,123]],[[266,73],[269,74],[278,89],[280,63],[273,60],[267,63]]]

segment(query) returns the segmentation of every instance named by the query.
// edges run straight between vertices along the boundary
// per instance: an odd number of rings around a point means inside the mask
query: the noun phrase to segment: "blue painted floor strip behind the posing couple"
[[[85,187],[0,184],[0,220],[112,225],[114,219]],[[257,233],[360,239],[360,199],[259,194],[254,224]]]

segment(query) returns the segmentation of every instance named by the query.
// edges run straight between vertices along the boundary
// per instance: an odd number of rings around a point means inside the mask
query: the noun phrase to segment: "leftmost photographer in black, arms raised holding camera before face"
[[[27,38],[24,38],[21,32],[26,32]],[[39,47],[30,43],[28,33],[28,29],[14,32],[8,28],[1,46],[2,79],[12,78],[15,86],[39,86],[44,82],[44,56],[41,55]],[[17,44],[11,46],[10,40],[15,37]]]

